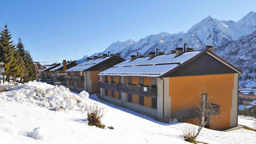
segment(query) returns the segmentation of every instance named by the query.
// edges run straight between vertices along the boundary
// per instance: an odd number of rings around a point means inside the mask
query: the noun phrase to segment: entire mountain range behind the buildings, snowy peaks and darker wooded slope
[[[183,47],[184,43],[195,50],[204,49],[205,45],[214,45],[214,52],[241,68],[241,83],[256,79],[256,12],[251,11],[237,22],[232,20],[218,20],[210,15],[192,26],[186,33],[181,31],[177,34],[159,33],[150,35],[139,41],[129,39],[125,42],[115,42],[103,52],[93,55],[120,52],[122,58],[129,59],[130,55],[148,55],[149,52],[160,49],[160,52],[171,53],[177,47]],[[84,61],[82,58],[79,61]],[[252,70],[251,70],[252,69]]]

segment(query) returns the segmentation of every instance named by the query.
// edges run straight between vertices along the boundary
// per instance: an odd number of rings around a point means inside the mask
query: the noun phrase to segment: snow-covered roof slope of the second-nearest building
[[[113,57],[113,56],[111,56]],[[79,65],[72,67],[70,69],[67,69],[66,71],[84,71],[92,66],[97,65],[98,63],[105,61],[111,57],[106,57],[106,58],[100,58],[100,59],[96,59],[96,60],[89,60],[89,61],[85,61],[83,63],[80,63]]]

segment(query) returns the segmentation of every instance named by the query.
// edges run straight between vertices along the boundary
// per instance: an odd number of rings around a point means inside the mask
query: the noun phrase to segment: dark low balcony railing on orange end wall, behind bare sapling
[[[206,109],[214,110],[214,113],[212,113],[212,115],[220,114],[220,105],[212,103],[212,105],[207,107]],[[186,121],[188,119],[198,118],[199,116],[201,116],[201,114],[199,113],[199,108],[172,111],[172,118],[177,118],[178,121]]]

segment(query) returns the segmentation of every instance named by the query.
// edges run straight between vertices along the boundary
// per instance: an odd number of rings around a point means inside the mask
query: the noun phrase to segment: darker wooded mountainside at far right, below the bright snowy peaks
[[[239,85],[251,83],[256,86],[256,31],[252,34],[242,36],[236,41],[214,49],[214,52],[220,55],[234,66],[243,70],[239,77]]]

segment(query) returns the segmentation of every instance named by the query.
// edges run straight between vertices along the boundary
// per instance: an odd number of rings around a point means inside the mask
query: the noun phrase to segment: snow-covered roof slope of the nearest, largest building
[[[150,60],[149,57],[132,61],[129,59],[102,71],[99,75],[158,77],[201,52],[186,52],[179,55],[179,57],[175,57],[175,54],[158,55]]]

